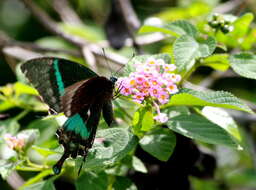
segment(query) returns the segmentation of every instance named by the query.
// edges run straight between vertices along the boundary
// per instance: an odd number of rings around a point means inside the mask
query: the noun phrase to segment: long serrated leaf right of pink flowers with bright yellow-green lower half
[[[253,111],[233,94],[224,91],[202,92],[183,88],[171,97],[167,106],[213,106],[253,113]]]

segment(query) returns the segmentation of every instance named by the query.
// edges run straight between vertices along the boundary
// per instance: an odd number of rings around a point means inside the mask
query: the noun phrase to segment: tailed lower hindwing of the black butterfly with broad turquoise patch
[[[101,105],[92,106],[90,108],[90,115],[88,116],[86,114],[86,116],[84,116],[87,110],[83,109],[81,113],[69,117],[64,126],[58,129],[59,142],[64,147],[64,153],[59,161],[53,166],[55,174],[60,173],[64,161],[69,156],[76,158],[77,155],[80,155],[84,157],[85,161],[88,151],[92,148],[95,139],[101,110]],[[82,165],[78,174],[81,169]]]

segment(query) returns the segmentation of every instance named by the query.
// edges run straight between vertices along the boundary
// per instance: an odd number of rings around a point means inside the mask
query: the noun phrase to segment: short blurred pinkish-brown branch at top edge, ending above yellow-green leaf
[[[74,25],[83,24],[76,12],[69,6],[67,0],[54,0],[52,6],[64,22]]]

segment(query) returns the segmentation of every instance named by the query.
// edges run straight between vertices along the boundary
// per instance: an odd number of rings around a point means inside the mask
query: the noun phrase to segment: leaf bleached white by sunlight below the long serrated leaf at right
[[[238,126],[234,119],[221,108],[214,108],[206,106],[202,109],[202,114],[211,122],[225,129],[230,135],[241,142],[242,137],[239,132]]]

